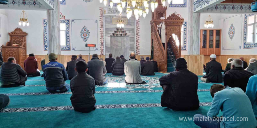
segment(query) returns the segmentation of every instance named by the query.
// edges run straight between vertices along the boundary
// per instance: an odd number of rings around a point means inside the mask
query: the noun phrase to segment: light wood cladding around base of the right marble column
[[[187,69],[196,75],[203,75],[204,55],[184,55]]]

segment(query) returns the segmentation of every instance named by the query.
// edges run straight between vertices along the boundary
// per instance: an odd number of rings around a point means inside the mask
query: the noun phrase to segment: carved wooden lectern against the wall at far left
[[[5,46],[1,46],[4,62],[7,62],[8,57],[14,57],[16,63],[24,69],[24,61],[27,58],[26,36],[28,33],[17,28],[8,34],[10,35],[10,41]]]

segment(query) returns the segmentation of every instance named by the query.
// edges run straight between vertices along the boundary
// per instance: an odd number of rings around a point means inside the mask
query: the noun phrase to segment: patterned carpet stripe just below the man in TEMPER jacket
[[[206,92],[210,91],[209,89],[199,89],[199,92]],[[96,91],[97,94],[102,93],[161,93],[163,90],[127,90],[127,91]],[[4,93],[8,96],[22,96],[22,95],[65,95],[65,94],[72,94],[71,92],[66,93]]]

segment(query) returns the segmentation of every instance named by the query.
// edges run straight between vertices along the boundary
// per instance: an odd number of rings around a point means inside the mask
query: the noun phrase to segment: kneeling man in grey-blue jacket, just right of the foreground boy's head
[[[88,61],[88,74],[95,79],[95,85],[105,85],[107,83],[107,79],[105,77],[106,68],[104,66],[103,61],[98,59],[97,54],[92,55],[91,61]]]

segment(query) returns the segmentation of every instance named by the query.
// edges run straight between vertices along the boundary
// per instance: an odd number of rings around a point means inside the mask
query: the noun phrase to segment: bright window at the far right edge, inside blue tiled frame
[[[247,44],[257,43],[257,15],[247,18]]]

